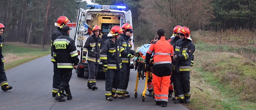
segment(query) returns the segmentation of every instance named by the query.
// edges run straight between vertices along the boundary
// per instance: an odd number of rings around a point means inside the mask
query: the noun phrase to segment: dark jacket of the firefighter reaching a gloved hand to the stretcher
[[[122,64],[129,64],[130,65],[130,58],[127,57],[128,54],[134,55],[135,51],[132,49],[130,36],[121,34],[120,38],[120,45],[127,51],[127,54],[122,54]]]

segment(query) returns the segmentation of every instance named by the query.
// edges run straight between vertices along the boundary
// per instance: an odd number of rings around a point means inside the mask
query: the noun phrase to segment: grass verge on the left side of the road
[[[50,46],[47,45],[45,48],[46,51],[42,51],[41,45],[27,45],[20,42],[5,42],[2,47],[2,54],[5,57],[5,70],[50,54]]]

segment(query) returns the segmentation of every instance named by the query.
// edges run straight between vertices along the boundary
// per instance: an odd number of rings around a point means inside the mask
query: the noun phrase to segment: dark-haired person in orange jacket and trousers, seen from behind
[[[164,29],[157,30],[158,41],[153,42],[146,54],[146,65],[150,64],[150,58],[153,56],[153,87],[155,92],[156,104],[167,107],[168,88],[170,86],[171,59],[174,55],[173,46],[166,41]]]

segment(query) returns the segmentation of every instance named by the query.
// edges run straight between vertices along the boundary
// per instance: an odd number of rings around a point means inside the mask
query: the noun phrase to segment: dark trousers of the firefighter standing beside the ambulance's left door
[[[88,62],[88,68],[89,68],[88,81],[90,83],[90,86],[96,85],[96,76],[98,73],[98,66],[99,64]]]

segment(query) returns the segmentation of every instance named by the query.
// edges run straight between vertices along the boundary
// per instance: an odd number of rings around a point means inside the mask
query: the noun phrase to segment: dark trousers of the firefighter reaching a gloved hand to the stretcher
[[[130,77],[130,65],[129,64],[122,64],[121,68],[121,81],[116,90],[116,94],[126,94],[126,89],[128,87]]]

